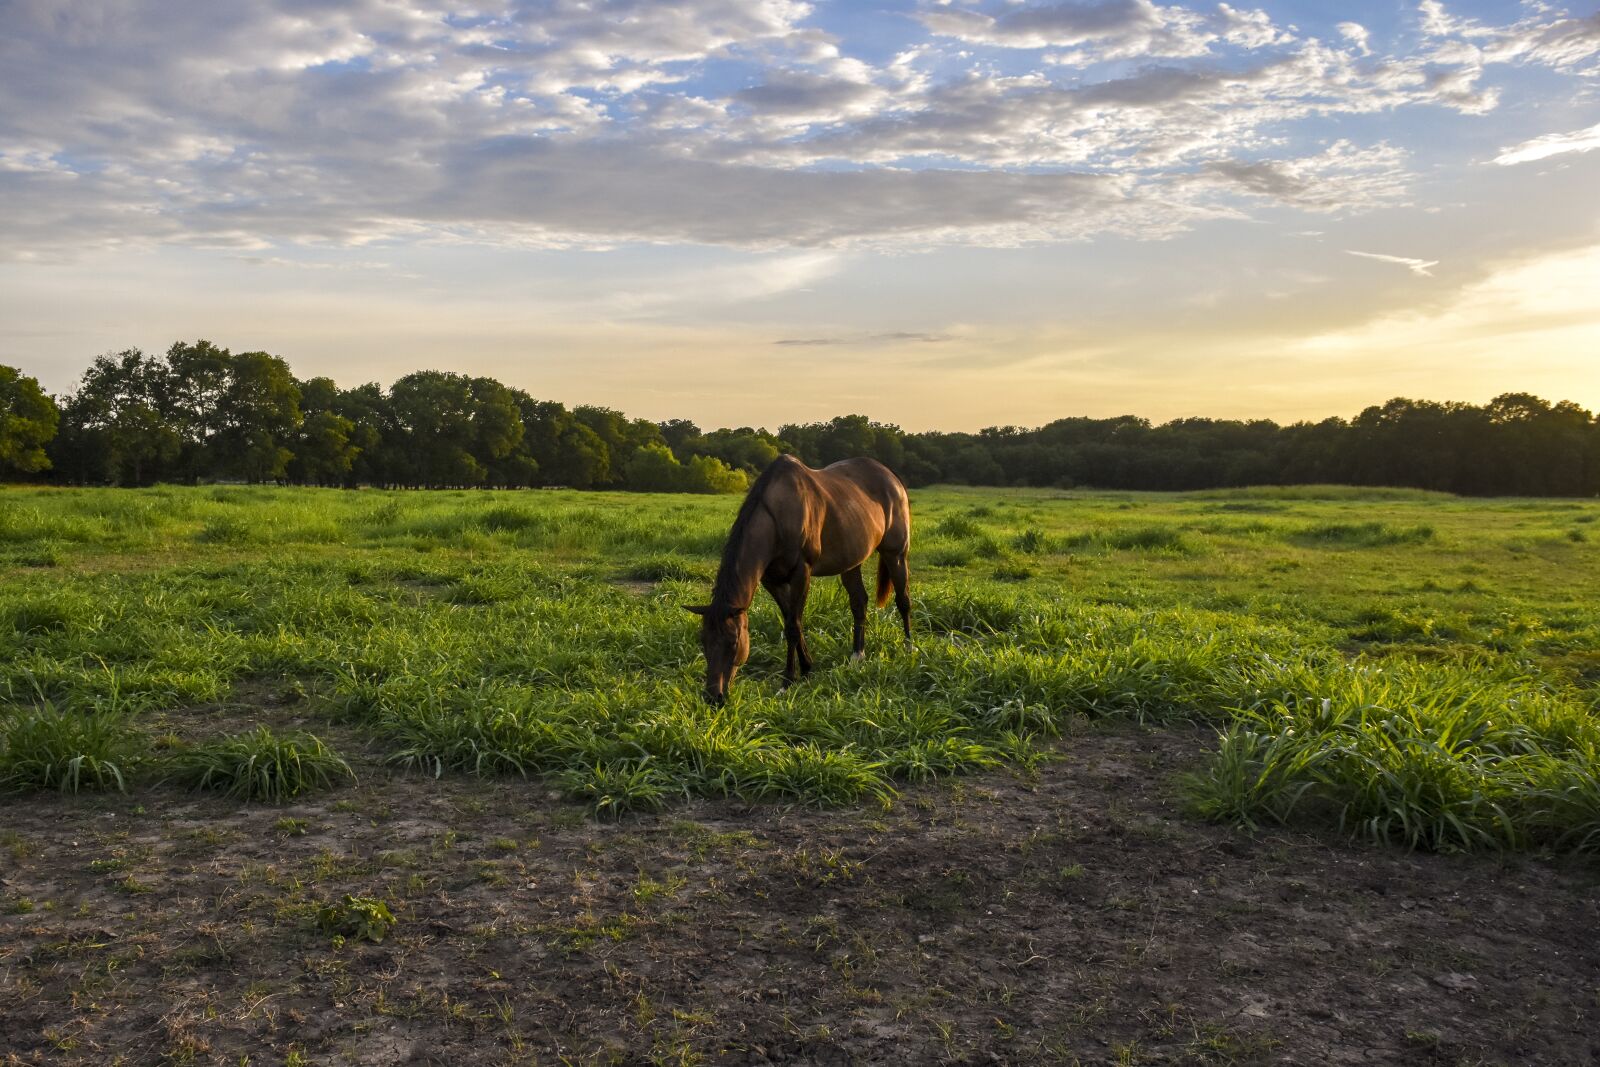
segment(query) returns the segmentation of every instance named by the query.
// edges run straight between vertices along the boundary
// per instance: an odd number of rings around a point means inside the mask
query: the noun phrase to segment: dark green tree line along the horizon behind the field
[[[1067,418],[1037,429],[907,434],[866,416],[702,430],[536,400],[491,378],[416,371],[387,390],[298,379],[266,352],[208,341],[98,357],[50,397],[0,366],[0,475],[72,485],[277,482],[322,486],[738,493],[779,453],[874,456],[907,485],[1205,490],[1342,483],[1462,494],[1600,494],[1600,419],[1504,394],[1486,405],[1395,398],[1354,419]]]

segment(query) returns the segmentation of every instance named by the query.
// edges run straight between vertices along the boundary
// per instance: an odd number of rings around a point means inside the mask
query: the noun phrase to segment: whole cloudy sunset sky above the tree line
[[[0,0],[0,363],[704,427],[1600,408],[1600,10]]]

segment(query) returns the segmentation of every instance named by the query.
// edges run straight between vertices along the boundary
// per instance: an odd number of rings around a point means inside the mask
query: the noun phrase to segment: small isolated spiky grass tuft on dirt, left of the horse
[[[275,734],[266,726],[182,749],[171,757],[171,773],[192,789],[269,801],[291,800],[355,777],[350,765],[315,734]]]

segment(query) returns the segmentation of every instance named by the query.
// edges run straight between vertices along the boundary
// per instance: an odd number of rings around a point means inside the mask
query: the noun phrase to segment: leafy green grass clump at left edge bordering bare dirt
[[[62,793],[128,789],[142,745],[115,712],[14,712],[0,718],[0,790]]]

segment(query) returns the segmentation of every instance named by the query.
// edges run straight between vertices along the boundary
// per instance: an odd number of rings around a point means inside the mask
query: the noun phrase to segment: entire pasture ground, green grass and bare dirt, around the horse
[[[1594,1053],[1600,502],[912,506],[710,709],[736,498],[0,490],[0,1046]]]

